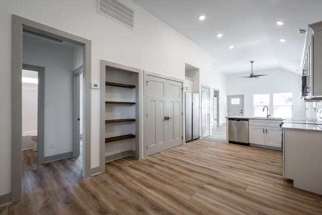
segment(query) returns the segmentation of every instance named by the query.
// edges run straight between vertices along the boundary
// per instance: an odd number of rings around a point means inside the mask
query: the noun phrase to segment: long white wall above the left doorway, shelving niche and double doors
[[[100,83],[100,59],[184,80],[185,63],[200,68],[200,84],[211,86],[211,55],[130,0],[135,30],[97,13],[97,1],[2,1],[0,7],[0,195],[11,184],[11,16],[12,14],[92,41],[92,82]],[[77,5],[77,10],[74,9]],[[70,13],[70,12],[73,13]],[[100,165],[100,91],[92,90],[91,168]]]

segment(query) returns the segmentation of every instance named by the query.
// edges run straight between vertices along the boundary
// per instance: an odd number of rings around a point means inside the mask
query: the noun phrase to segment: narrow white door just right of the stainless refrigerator
[[[202,137],[210,135],[210,89],[207,87],[202,87],[201,94],[201,132]]]

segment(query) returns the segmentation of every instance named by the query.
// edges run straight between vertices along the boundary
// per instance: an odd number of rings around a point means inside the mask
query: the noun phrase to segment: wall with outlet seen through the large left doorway
[[[72,48],[24,34],[23,63],[45,67],[44,157],[71,152]]]

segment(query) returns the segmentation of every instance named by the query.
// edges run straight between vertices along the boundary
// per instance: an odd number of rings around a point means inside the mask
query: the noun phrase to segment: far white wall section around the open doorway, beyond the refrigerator
[[[217,120],[219,120],[219,124],[222,125],[226,123],[225,117],[227,116],[227,76],[219,73],[215,68],[213,68],[212,74],[212,96],[214,90],[219,91],[219,119]],[[211,108],[213,111],[213,98],[211,99]],[[210,121],[213,123],[213,120]]]

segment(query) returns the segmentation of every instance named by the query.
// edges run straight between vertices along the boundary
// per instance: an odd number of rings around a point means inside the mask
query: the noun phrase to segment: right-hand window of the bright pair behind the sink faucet
[[[273,94],[273,115],[274,117],[292,117],[293,93]]]

